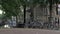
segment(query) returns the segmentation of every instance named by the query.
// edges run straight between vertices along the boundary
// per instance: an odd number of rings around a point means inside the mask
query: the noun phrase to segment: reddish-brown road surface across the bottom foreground
[[[58,30],[44,29],[0,29],[0,34],[60,34]]]

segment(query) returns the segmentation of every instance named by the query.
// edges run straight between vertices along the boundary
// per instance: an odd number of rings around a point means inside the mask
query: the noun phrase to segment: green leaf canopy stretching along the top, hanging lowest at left
[[[52,0],[53,3],[59,2],[59,0]],[[50,3],[49,0],[0,0],[6,16],[17,16],[20,12],[20,6],[26,5],[26,7],[44,5]]]

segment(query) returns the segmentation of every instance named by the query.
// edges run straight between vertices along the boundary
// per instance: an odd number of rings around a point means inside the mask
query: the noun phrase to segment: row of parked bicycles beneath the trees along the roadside
[[[59,29],[59,23],[49,23],[49,22],[28,22],[25,24],[18,24],[20,28],[41,28],[41,29]]]

